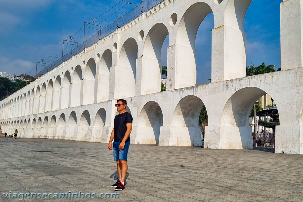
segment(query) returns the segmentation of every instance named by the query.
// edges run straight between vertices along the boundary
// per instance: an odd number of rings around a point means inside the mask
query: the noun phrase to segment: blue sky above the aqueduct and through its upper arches
[[[0,71],[22,74],[35,72],[36,61],[50,56],[61,44],[62,39],[73,35],[83,27],[83,22],[96,18],[121,0],[11,0],[0,1]],[[141,0],[129,0],[137,5]],[[280,2],[282,0],[253,0],[245,18],[247,32],[247,65],[280,67]],[[122,8],[122,6],[124,6]],[[133,8],[124,2],[112,12],[97,18],[102,26],[114,20],[123,11]],[[120,10],[119,10],[120,9]],[[124,13],[125,13],[124,12]],[[100,24],[100,23],[99,23]],[[198,30],[197,84],[208,83],[211,78],[211,29],[214,28],[213,15],[201,23]],[[83,30],[74,38],[79,42]],[[162,47],[162,64],[166,64],[168,40]],[[164,51],[163,51],[164,50]],[[60,57],[62,49],[53,54]],[[58,58],[49,58],[48,63]]]

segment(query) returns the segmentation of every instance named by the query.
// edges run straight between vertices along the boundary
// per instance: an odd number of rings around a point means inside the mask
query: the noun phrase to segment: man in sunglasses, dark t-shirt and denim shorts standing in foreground
[[[114,161],[117,162],[117,170],[119,174],[119,179],[116,184],[113,184],[112,187],[115,187],[116,191],[121,191],[125,189],[124,180],[127,173],[127,153],[129,148],[129,135],[132,132],[132,115],[128,113],[126,109],[127,101],[123,99],[117,100],[117,111],[119,114],[115,116],[114,128],[108,143],[108,149],[113,150]],[[114,144],[112,147],[112,141]]]

